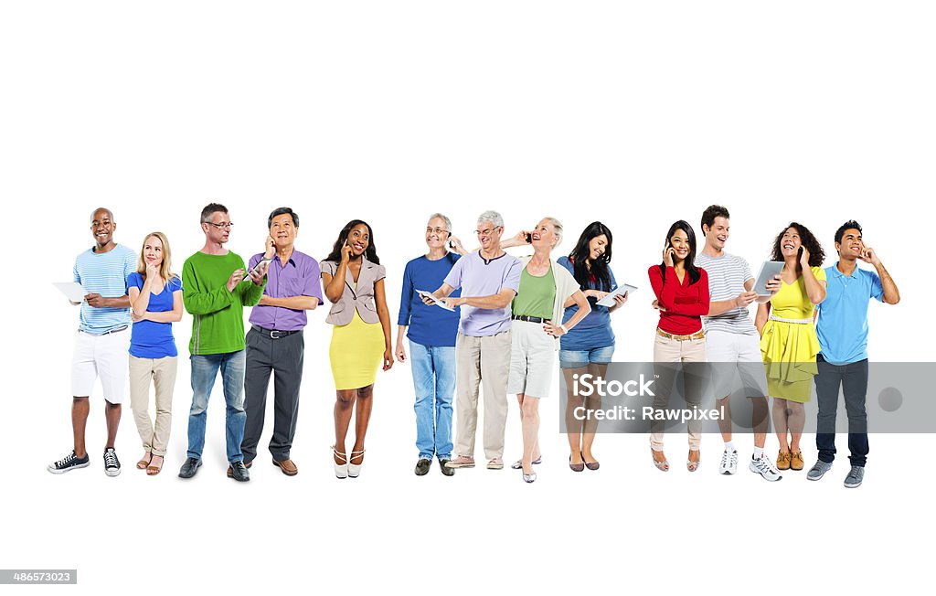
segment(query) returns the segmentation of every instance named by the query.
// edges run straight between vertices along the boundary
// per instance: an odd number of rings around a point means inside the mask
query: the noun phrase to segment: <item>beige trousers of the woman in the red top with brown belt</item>
[[[705,339],[672,340],[657,333],[656,341],[653,342],[653,361],[705,362]],[[683,374],[686,406],[695,408],[702,400],[702,380],[695,375],[685,374],[685,372]],[[656,397],[653,399],[653,407],[656,409],[666,407],[669,394],[676,382],[675,371],[671,368],[661,367],[659,377],[656,384]],[[690,421],[686,426],[689,431],[689,449],[697,451],[699,444],[702,443],[702,433],[699,430],[701,421]],[[665,433],[662,427],[663,423],[654,422],[651,424],[650,446],[653,451],[663,451],[663,436]]]

